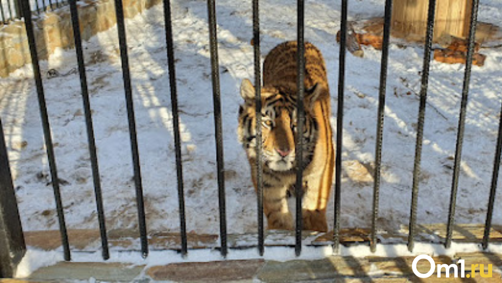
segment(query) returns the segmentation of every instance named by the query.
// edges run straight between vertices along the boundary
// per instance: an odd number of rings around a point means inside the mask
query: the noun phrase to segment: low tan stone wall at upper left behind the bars
[[[122,3],[124,17],[132,18],[161,0],[122,0]],[[85,0],[77,5],[82,40],[116,24],[113,0]],[[47,59],[58,47],[74,47],[69,6],[46,12],[33,20],[33,26],[40,60]],[[0,25],[0,77],[27,63],[31,63],[31,57],[24,22]]]

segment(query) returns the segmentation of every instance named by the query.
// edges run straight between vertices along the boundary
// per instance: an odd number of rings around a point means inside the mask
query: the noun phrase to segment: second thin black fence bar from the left
[[[78,11],[76,0],[70,0],[70,14],[73,28],[73,39],[75,41],[75,51],[77,53],[78,73],[80,75],[80,89],[82,91],[82,102],[85,113],[85,125],[87,128],[87,143],[89,145],[89,155],[92,167],[92,179],[94,182],[94,196],[96,198],[97,217],[99,222],[99,232],[101,236],[101,248],[103,259],[110,257],[108,251],[108,238],[106,235],[106,225],[104,218],[103,199],[101,194],[101,181],[99,177],[99,166],[97,161],[96,144],[94,141],[94,127],[92,125],[92,114],[89,102],[89,91],[87,89],[87,76],[85,73],[84,55],[82,51],[82,39],[80,36],[80,24],[78,22]]]

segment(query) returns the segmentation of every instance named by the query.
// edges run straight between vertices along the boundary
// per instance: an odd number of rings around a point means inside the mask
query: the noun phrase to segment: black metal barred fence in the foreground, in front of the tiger
[[[59,189],[59,179],[58,170],[56,168],[55,155],[53,150],[53,141],[51,137],[50,124],[47,116],[47,109],[44,97],[44,87],[42,84],[42,78],[40,74],[39,60],[37,55],[37,48],[35,44],[33,25],[32,25],[32,13],[30,9],[29,0],[22,0],[22,12],[26,22],[26,31],[29,38],[30,52],[32,56],[32,64],[35,75],[36,88],[38,93],[38,100],[40,104],[40,114],[42,118],[42,127],[44,131],[45,145],[47,149],[48,161],[50,165],[52,186],[54,190],[54,197],[57,206],[57,215],[59,220],[59,228],[61,232],[62,246],[64,251],[64,259],[70,260],[71,251],[68,242],[68,234],[66,231],[65,217],[63,213],[63,206],[60,196]],[[164,21],[165,21],[165,32],[166,32],[166,46],[167,46],[167,59],[169,66],[169,80],[170,80],[170,91],[171,91],[171,106],[173,112],[173,128],[174,128],[174,138],[175,138],[175,155],[176,155],[176,165],[177,165],[177,184],[178,184],[178,200],[179,200],[179,215],[180,215],[180,237],[181,237],[181,247],[180,251],[182,255],[186,255],[187,250],[187,233],[185,224],[185,204],[184,204],[184,184],[183,184],[183,170],[181,161],[181,146],[180,146],[180,127],[178,121],[178,104],[177,104],[177,89],[176,89],[176,72],[175,72],[175,60],[174,60],[174,48],[173,48],[173,33],[172,33],[172,23],[171,23],[171,8],[170,1],[164,0]],[[379,90],[379,105],[378,105],[378,115],[377,115],[377,127],[376,127],[376,147],[375,147],[375,170],[374,170],[374,191],[373,191],[373,208],[372,208],[372,225],[371,225],[371,236],[370,236],[370,248],[375,251],[377,243],[377,219],[379,212],[379,189],[380,189],[380,179],[381,179],[381,160],[382,160],[382,143],[383,143],[383,126],[384,126],[384,109],[385,109],[385,98],[386,98],[386,81],[387,81],[387,66],[388,66],[388,56],[389,56],[389,40],[390,40],[390,27],[391,27],[391,11],[392,11],[392,0],[386,0],[385,4],[385,24],[384,24],[384,44],[382,50],[382,61],[381,61],[381,77],[380,77],[380,90]],[[465,67],[465,76],[462,91],[462,101],[460,108],[460,118],[458,121],[458,134],[457,134],[457,144],[455,152],[455,163],[452,176],[451,185],[451,199],[450,199],[450,210],[447,225],[447,236],[444,242],[445,247],[449,247],[452,241],[452,228],[455,220],[455,204],[457,196],[458,187],[458,174],[459,166],[462,153],[462,140],[464,132],[464,122],[467,98],[469,92],[469,79],[471,73],[471,63],[472,56],[474,52],[474,35],[476,30],[477,22],[477,12],[478,12],[478,0],[473,0],[472,10],[471,10],[471,24],[470,32],[468,38],[468,52],[467,52],[467,62]],[[88,146],[90,152],[90,162],[92,166],[92,175],[94,181],[94,192],[96,198],[96,206],[98,212],[98,221],[101,236],[101,246],[102,246],[102,256],[104,259],[109,258],[108,251],[108,241],[107,232],[104,221],[103,213],[103,203],[101,199],[101,185],[99,179],[99,168],[96,156],[96,146],[94,142],[94,131],[92,125],[92,117],[89,105],[89,95],[87,90],[87,80],[82,52],[82,42],[80,37],[80,29],[78,22],[78,11],[76,6],[76,0],[70,0],[70,11],[72,18],[73,34],[76,47],[76,55],[78,59],[78,70],[80,74],[81,91],[83,106],[85,112],[85,121],[87,126],[88,135]],[[297,54],[297,86],[298,86],[298,109],[297,111],[297,121],[298,121],[298,131],[297,134],[303,133],[303,123],[304,123],[304,112],[303,110],[303,96],[304,96],[304,0],[298,0],[298,54]],[[427,35],[425,42],[425,55],[423,59],[423,70],[422,83],[420,91],[420,106],[418,114],[418,129],[417,129],[417,140],[416,140],[416,153],[415,153],[415,165],[413,170],[413,189],[412,189],[412,203],[411,203],[411,217],[409,222],[409,236],[408,236],[408,248],[410,251],[414,248],[415,238],[417,235],[417,203],[419,194],[419,174],[420,174],[420,161],[422,153],[422,140],[423,140],[423,130],[424,130],[424,120],[425,120],[425,110],[426,110],[426,100],[427,100],[427,86],[429,77],[429,66],[430,57],[432,49],[432,38],[434,31],[434,17],[435,17],[435,7],[436,0],[429,1],[429,11],[428,11],[428,21],[427,21]],[[139,161],[138,152],[138,141],[136,135],[136,124],[135,124],[135,113],[133,107],[133,93],[131,88],[131,77],[129,70],[128,61],[128,48],[126,42],[126,32],[124,27],[124,16],[122,10],[121,0],[115,0],[115,12],[117,18],[117,31],[120,46],[120,58],[122,66],[122,75],[124,83],[124,92],[127,101],[127,111],[128,111],[128,122],[129,122],[129,133],[131,139],[131,151],[133,156],[134,164],[134,180],[136,187],[136,204],[138,208],[138,219],[139,219],[139,232],[141,239],[141,251],[143,257],[148,256],[149,245],[147,239],[147,227],[145,221],[145,209],[143,203],[143,187],[142,187],[142,174]],[[220,252],[222,256],[228,253],[227,248],[227,233],[226,233],[226,213],[225,213],[225,183],[223,178],[223,144],[222,144],[222,129],[221,129],[221,104],[220,104],[220,83],[219,83],[219,66],[218,66],[218,47],[217,47],[217,37],[216,37],[216,13],[215,13],[215,0],[207,1],[207,11],[209,16],[209,45],[210,45],[210,60],[211,60],[211,78],[213,87],[213,106],[214,106],[214,125],[215,125],[215,140],[216,140],[216,161],[217,161],[217,181],[218,181],[218,200],[219,200],[219,217],[220,217]],[[344,80],[345,80],[345,53],[346,53],[346,33],[347,33],[347,11],[348,11],[348,0],[341,1],[341,33],[340,33],[340,53],[339,53],[339,76],[338,76],[338,106],[337,106],[337,133],[336,133],[336,171],[335,171],[335,184],[334,184],[334,235],[333,235],[333,248],[337,250],[340,243],[340,192],[341,192],[341,171],[342,171],[342,136],[343,136],[343,95],[344,91]],[[255,85],[256,85],[256,116],[257,116],[257,152],[258,154],[262,151],[261,142],[261,69],[260,69],[260,20],[259,20],[259,0],[253,0],[253,41],[254,41],[254,60],[255,60]],[[0,121],[0,130],[1,130]],[[296,154],[296,164],[302,164],[302,139],[296,139],[296,148],[299,153]],[[488,202],[488,212],[486,216],[484,238],[482,240],[483,248],[487,248],[489,239],[489,232],[491,229],[492,212],[494,206],[494,199],[496,193],[498,168],[500,165],[500,157],[502,153],[502,115],[499,122],[498,139],[496,143],[496,152],[494,156],[494,167],[493,176],[491,182],[491,192]],[[19,260],[25,250],[25,244],[23,240],[23,232],[21,231],[21,226],[19,225],[19,213],[17,211],[14,189],[12,184],[12,179],[10,176],[10,170],[7,159],[7,149],[4,143],[4,137],[2,132],[2,140],[0,142],[0,162],[2,169],[0,170],[0,270],[1,276],[12,275],[12,266]],[[263,184],[262,184],[262,164],[257,162],[257,180],[258,180],[258,243],[257,247],[261,255],[264,254],[264,222],[263,222]],[[296,190],[297,196],[300,196],[299,190],[302,187],[302,168],[299,166],[297,169],[297,179],[296,179]],[[301,254],[302,251],[302,199],[296,199],[296,241],[295,241],[295,251],[297,255]],[[18,223],[18,225],[13,225],[12,223]]]

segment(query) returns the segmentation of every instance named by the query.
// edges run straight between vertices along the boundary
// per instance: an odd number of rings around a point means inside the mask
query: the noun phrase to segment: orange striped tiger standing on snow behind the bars
[[[330,95],[326,66],[321,52],[305,43],[305,92],[303,129],[303,230],[326,232],[326,206],[334,170],[334,149],[330,124]],[[263,209],[267,228],[293,230],[287,199],[295,193],[297,128],[296,41],[276,46],[263,65],[262,156],[256,154],[255,86],[243,79],[239,106],[238,140],[242,144],[257,188],[256,160],[263,167]]]

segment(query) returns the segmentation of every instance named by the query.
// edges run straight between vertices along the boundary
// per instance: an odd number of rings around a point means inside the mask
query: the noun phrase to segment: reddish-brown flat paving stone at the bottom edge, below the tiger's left
[[[147,274],[154,280],[221,282],[253,279],[263,259],[173,263],[154,266]]]

